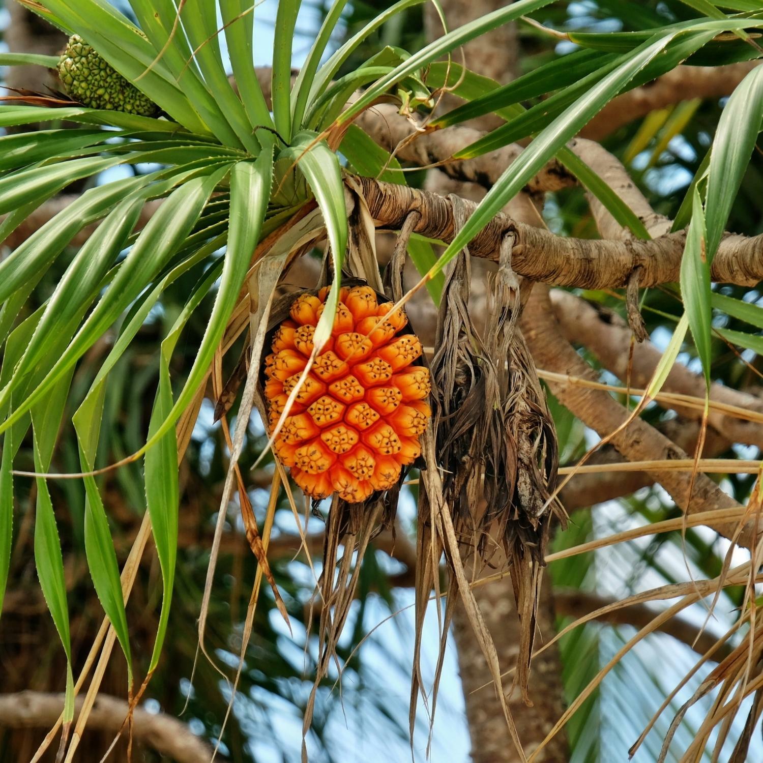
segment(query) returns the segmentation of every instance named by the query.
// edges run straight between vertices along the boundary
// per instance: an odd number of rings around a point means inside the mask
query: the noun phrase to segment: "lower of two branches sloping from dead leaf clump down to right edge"
[[[593,369],[562,337],[559,324],[553,316],[548,288],[542,285],[533,288],[523,314],[522,328],[530,352],[540,368],[595,380]],[[607,392],[554,382],[549,386],[575,417],[600,436],[609,437],[613,446],[629,461],[688,458],[686,452],[639,417],[631,420],[625,427],[629,419],[628,411]],[[707,475],[659,470],[650,470],[649,475],[668,491],[684,513],[724,508],[739,509],[739,504],[726,495]],[[735,535],[732,525],[710,526],[727,538],[733,538]],[[737,542],[739,546],[749,549],[754,546],[757,537],[757,526],[749,524],[742,528]]]

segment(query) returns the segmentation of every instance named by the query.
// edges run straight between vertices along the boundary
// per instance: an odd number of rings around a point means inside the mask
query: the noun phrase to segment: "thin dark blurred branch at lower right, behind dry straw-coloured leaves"
[[[561,589],[554,591],[554,603],[556,613],[559,615],[568,615],[578,620],[580,617],[594,612],[595,610],[607,607],[609,604],[615,604],[617,599],[609,596],[589,593],[588,591],[578,591],[573,589]],[[657,617],[658,610],[647,606],[646,604],[631,604],[629,607],[613,610],[603,613],[595,618],[600,623],[610,623],[610,625],[629,625],[634,628],[644,628]],[[700,629],[694,623],[684,620],[682,617],[672,617],[659,626],[655,633],[667,633],[674,639],[686,644],[694,649],[697,654],[703,655],[718,640],[713,633],[707,629]],[[723,644],[713,655],[715,662],[720,662],[731,652],[731,646]]]

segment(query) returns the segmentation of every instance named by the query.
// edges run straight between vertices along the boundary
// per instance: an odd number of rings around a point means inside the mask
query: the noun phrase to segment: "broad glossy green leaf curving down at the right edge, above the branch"
[[[707,260],[713,262],[729,212],[747,170],[763,120],[763,67],[749,72],[732,92],[713,138],[707,173]]]

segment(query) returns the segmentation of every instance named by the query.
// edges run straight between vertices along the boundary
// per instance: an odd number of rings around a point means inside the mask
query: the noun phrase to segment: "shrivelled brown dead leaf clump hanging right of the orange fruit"
[[[465,222],[463,204],[455,196],[449,201],[460,228]],[[543,557],[551,519],[555,514],[563,517],[564,511],[558,502],[549,501],[557,470],[555,430],[517,325],[522,304],[520,284],[511,269],[512,243],[508,234],[497,275],[489,285],[484,336],[468,310],[468,250],[453,262],[443,291],[431,363],[435,413],[433,427],[423,439],[427,468],[421,477],[418,531],[420,559],[426,564],[417,575],[417,626],[423,622],[430,591],[437,586],[436,562],[444,552],[452,575],[441,649],[458,594],[494,674],[519,748],[492,640],[464,575],[466,562],[475,569],[484,564],[508,566],[522,626],[514,682],[529,703],[527,682]],[[526,294],[529,285],[524,286]],[[427,459],[427,452],[436,453],[436,459]],[[417,641],[417,657],[419,652]],[[420,673],[414,671],[411,719],[420,691]]]

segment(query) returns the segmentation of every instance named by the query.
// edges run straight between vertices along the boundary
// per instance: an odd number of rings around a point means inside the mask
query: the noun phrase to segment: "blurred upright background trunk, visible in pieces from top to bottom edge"
[[[443,0],[443,11],[450,29],[461,26],[481,15],[490,13],[507,5],[504,0]],[[433,5],[427,5],[425,11],[427,33],[430,39],[443,34],[443,27]],[[514,24],[505,24],[467,43],[464,46],[465,64],[469,69],[496,79],[509,82],[517,76],[519,61],[517,28]],[[453,60],[460,63],[458,55]],[[444,108],[452,108],[455,98],[451,98]],[[495,118],[487,116],[475,120],[472,127],[491,129],[496,126]],[[427,189],[443,194],[455,192],[478,201],[485,195],[485,189],[472,183],[457,182],[443,172],[434,170],[427,178]],[[526,194],[520,194],[510,201],[507,211],[527,224],[536,225],[541,219],[535,211],[532,201]],[[478,304],[484,302],[485,270],[493,269],[493,263],[472,261],[473,294],[470,300],[472,314],[478,317]],[[484,310],[484,305],[482,307]],[[485,574],[489,572],[485,571]],[[520,623],[514,604],[511,580],[507,576],[501,580],[475,588],[475,598],[485,618],[485,624],[493,637],[501,670],[513,667],[517,660],[520,642]],[[551,638],[555,633],[554,609],[551,581],[546,577],[542,588],[542,601],[538,612],[539,634],[536,643]],[[485,657],[475,639],[472,625],[469,623],[464,608],[459,604],[453,617],[453,629],[459,654],[459,670],[464,688],[466,717],[469,734],[472,738],[472,760],[474,763],[516,763],[519,755],[509,737],[501,703],[491,686],[479,688],[491,681]],[[564,710],[562,671],[559,664],[559,651],[552,647],[533,660],[530,674],[530,697],[535,707],[526,707],[517,692],[508,700],[508,706],[517,726],[520,740],[526,754],[544,739]],[[511,679],[507,678],[507,687]],[[567,742],[560,734],[539,755],[538,763],[563,763],[568,760]]]

